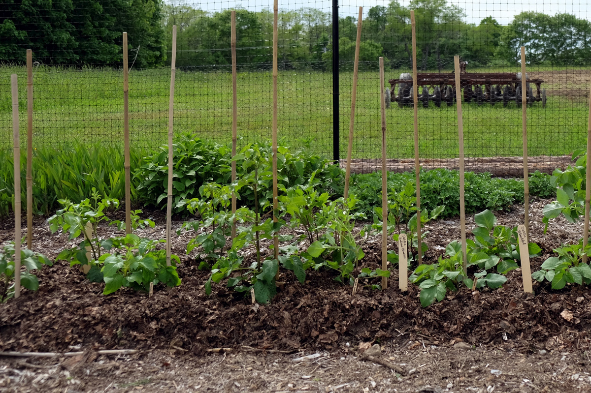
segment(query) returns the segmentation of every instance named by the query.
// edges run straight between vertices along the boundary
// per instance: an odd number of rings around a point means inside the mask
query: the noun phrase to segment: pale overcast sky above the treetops
[[[271,9],[273,2],[270,0],[243,0],[243,1],[202,1],[197,0],[165,0],[168,3],[184,3],[191,4],[196,8],[201,8],[206,11],[221,11],[222,9],[233,8],[235,6],[242,6],[242,8],[250,9],[251,11],[258,11],[259,9]],[[569,14],[577,15],[579,18],[589,19],[589,0],[568,0],[565,4],[564,0],[517,0],[517,1],[459,1],[448,0],[451,4],[455,4],[466,12],[466,21],[469,23],[478,24],[480,20],[492,16],[500,24],[506,25],[512,21],[513,17],[522,11],[536,11],[544,14],[554,15],[560,12],[567,12]],[[409,0],[401,0],[402,5],[408,5]],[[340,15],[357,15],[358,7],[363,6],[363,13],[366,14],[368,9],[375,5],[387,6],[389,0],[339,0]],[[332,0],[279,0],[280,9],[298,9],[302,7],[319,8],[325,11],[332,9]]]

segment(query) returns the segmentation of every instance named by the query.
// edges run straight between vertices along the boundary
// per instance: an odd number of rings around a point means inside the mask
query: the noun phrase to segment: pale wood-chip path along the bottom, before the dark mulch
[[[383,359],[410,375],[339,351],[179,355],[150,351],[79,359],[0,358],[4,392],[562,392],[591,391],[587,353],[523,355],[506,348],[456,349],[410,340],[386,345]],[[302,359],[311,355],[313,359]]]

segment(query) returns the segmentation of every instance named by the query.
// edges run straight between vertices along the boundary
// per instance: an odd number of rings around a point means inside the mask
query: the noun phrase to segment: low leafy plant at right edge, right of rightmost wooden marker
[[[583,241],[577,244],[563,245],[554,249],[558,257],[550,257],[544,261],[540,270],[532,274],[537,281],[547,280],[552,289],[563,289],[569,284],[590,284],[591,268],[583,263],[584,256],[591,256],[591,245],[583,249]]]

